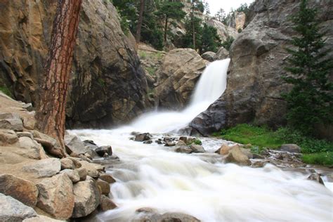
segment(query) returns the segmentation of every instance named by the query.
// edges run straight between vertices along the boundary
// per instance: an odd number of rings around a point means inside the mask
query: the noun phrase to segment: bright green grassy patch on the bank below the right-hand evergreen
[[[267,127],[239,124],[230,129],[223,129],[213,136],[242,144],[251,144],[254,153],[265,148],[277,149],[285,143],[295,143],[301,147],[303,162],[308,164],[333,165],[333,143],[304,136],[300,131],[280,128],[272,131]]]

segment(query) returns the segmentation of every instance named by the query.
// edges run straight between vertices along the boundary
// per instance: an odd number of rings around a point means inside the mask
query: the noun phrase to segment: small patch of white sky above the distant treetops
[[[208,2],[209,10],[211,11],[211,15],[215,15],[215,13],[223,8],[226,13],[230,11],[230,8],[238,8],[240,4],[246,3],[248,6],[254,0],[203,0],[204,2]]]

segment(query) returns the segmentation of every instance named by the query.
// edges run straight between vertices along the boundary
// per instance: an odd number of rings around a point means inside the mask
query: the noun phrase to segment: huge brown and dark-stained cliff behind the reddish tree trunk
[[[38,84],[57,1],[0,2],[0,86],[27,103]],[[67,124],[107,126],[144,109],[147,81],[131,38],[110,1],[83,1],[74,51]]]

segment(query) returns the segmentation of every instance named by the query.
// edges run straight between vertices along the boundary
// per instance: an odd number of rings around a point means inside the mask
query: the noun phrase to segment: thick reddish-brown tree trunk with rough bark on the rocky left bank
[[[58,0],[51,45],[41,77],[37,128],[57,138],[65,153],[65,107],[81,0]]]

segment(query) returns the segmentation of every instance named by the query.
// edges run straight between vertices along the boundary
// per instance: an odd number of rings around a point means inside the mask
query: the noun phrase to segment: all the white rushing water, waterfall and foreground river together
[[[117,181],[111,192],[118,208],[99,214],[98,220],[131,221],[142,207],[207,222],[333,220],[333,195],[325,186],[270,164],[263,168],[223,164],[213,152],[226,141],[207,139],[203,143],[207,153],[188,155],[129,140],[132,131],[167,133],[188,124],[226,89],[228,63],[222,60],[207,67],[190,105],[181,112],[150,112],[118,129],[71,131],[98,145],[112,145],[121,159],[107,171]]]

